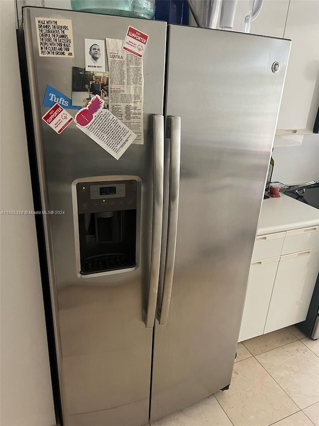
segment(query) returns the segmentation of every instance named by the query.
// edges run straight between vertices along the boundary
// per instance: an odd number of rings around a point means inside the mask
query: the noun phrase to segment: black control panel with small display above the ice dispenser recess
[[[79,214],[137,208],[136,180],[79,182],[76,192]]]

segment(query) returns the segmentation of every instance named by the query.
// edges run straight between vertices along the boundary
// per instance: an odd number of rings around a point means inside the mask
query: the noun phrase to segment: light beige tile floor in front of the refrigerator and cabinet
[[[294,326],[239,343],[232,382],[151,426],[319,426],[319,340]]]

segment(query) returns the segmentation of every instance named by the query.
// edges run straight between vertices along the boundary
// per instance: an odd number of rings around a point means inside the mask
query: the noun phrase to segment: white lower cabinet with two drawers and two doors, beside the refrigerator
[[[305,321],[319,273],[319,226],[258,236],[239,342]]]

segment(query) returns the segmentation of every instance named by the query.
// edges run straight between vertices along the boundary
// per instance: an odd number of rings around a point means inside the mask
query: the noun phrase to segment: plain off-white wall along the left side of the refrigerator
[[[33,210],[14,0],[0,0],[0,210]],[[0,215],[0,426],[55,424],[33,216]]]

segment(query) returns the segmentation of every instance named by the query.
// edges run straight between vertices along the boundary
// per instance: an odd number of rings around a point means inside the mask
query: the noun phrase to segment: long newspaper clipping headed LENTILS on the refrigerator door
[[[143,144],[143,59],[126,53],[123,40],[106,38],[109,65],[109,110]]]

